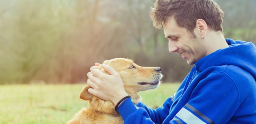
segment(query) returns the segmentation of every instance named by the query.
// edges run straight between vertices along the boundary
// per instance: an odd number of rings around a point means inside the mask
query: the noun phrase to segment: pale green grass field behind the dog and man
[[[0,86],[0,124],[65,124],[87,107],[79,99],[85,84]],[[155,108],[178,88],[179,83],[162,83],[157,89],[139,92],[143,103]]]

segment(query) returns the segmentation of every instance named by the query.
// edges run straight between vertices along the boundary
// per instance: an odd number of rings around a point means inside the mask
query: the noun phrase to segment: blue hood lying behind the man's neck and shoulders
[[[226,39],[228,48],[217,50],[195,63],[199,72],[212,66],[235,65],[251,73],[256,79],[256,47],[251,42]]]

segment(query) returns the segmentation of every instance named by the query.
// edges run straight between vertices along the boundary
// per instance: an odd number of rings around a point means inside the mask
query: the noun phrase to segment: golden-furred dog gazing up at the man
[[[132,60],[124,58],[106,60],[104,64],[113,67],[119,73],[124,89],[132,97],[133,103],[142,100],[137,92],[157,88],[162,79],[160,67],[140,67]],[[108,74],[102,67],[99,67],[99,70]],[[122,117],[114,110],[114,104],[90,94],[89,88],[89,85],[85,86],[80,93],[82,100],[89,100],[88,108],[78,112],[68,124],[123,124]]]

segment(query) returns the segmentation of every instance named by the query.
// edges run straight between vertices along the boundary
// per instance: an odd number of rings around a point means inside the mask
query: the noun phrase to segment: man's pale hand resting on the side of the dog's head
[[[109,74],[105,74],[99,71],[99,63],[95,63],[95,66],[91,67],[91,72],[87,73],[87,83],[92,88],[88,89],[88,92],[103,100],[110,100],[117,105],[119,100],[127,96],[124,91],[124,84],[120,75],[110,66],[102,64],[102,67]]]

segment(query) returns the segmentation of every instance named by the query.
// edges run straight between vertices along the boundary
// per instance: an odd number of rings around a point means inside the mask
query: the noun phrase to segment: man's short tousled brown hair
[[[223,16],[223,11],[213,0],[157,0],[150,15],[153,25],[159,29],[169,17],[174,17],[180,27],[192,34],[197,19],[203,19],[209,29],[223,32]]]

